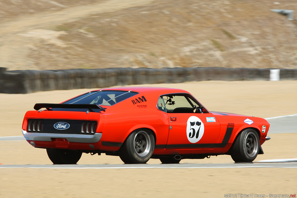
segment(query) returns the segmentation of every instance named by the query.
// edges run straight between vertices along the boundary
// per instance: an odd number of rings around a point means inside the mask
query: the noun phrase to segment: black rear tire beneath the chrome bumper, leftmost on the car
[[[76,150],[47,148],[46,152],[53,164],[76,164],[82,152]]]

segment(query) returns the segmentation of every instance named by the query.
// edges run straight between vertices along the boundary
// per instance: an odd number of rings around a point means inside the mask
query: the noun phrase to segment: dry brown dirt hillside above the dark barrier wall
[[[7,0],[0,67],[297,68],[295,0]],[[296,11],[296,10],[295,10]]]

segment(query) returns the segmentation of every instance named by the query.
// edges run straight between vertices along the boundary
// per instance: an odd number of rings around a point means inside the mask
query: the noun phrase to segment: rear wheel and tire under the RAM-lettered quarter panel
[[[154,135],[147,129],[132,132],[122,145],[119,156],[125,164],[145,164],[153,155]]]

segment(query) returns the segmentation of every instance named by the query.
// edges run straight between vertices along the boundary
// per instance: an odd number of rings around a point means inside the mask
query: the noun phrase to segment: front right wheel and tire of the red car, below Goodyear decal
[[[252,162],[260,150],[260,141],[254,129],[245,129],[236,138],[231,150],[231,157],[235,162]]]

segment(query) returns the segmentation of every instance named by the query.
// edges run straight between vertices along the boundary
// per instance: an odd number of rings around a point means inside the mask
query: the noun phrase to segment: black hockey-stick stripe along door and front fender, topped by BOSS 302
[[[224,148],[230,140],[231,134],[233,132],[233,127],[234,125],[227,126],[225,137],[222,143],[219,144],[170,144],[167,145],[166,148]]]

